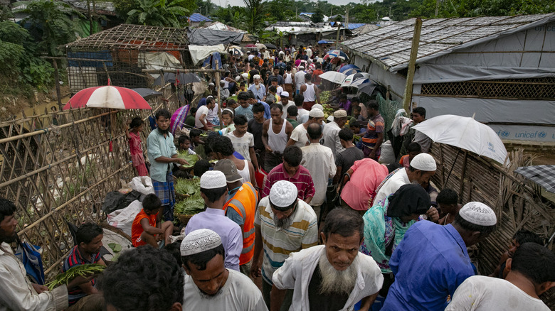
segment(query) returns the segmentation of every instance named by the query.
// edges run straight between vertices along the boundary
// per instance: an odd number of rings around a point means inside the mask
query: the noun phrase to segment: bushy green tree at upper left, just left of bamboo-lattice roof
[[[36,40],[37,50],[46,51],[48,55],[62,55],[58,46],[76,39],[78,27],[71,16],[85,17],[58,0],[20,1],[18,4],[24,8],[14,12],[28,14],[21,24],[30,24],[29,33]]]

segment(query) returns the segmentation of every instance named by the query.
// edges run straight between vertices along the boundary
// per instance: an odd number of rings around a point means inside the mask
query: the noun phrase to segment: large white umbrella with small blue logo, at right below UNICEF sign
[[[502,164],[507,158],[507,149],[497,133],[474,118],[445,114],[434,116],[413,129],[425,133],[436,143],[472,151]]]

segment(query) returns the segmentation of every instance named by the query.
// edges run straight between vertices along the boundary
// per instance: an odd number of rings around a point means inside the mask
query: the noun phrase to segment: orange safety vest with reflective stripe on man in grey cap
[[[243,217],[243,251],[239,256],[239,265],[244,265],[253,259],[255,227],[254,217],[258,206],[258,192],[250,182],[243,182],[243,185],[233,195],[231,200],[226,202],[223,210],[228,211],[228,207],[234,209],[240,217]]]

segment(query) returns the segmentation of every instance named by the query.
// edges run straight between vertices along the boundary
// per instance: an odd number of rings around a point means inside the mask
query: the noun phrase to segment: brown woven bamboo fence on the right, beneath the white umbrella
[[[460,148],[434,143],[430,150],[438,163],[432,181],[441,189],[458,192],[461,203],[478,201],[492,207],[497,214],[497,229],[478,244],[478,270],[489,275],[507,251],[512,236],[519,229],[535,232],[548,239],[555,233],[555,206],[541,196],[540,188],[522,175],[519,166],[532,165],[534,157],[522,149],[509,153],[510,163],[503,167],[492,160]],[[453,165],[454,163],[454,165]],[[547,245],[553,250],[553,241]],[[541,297],[555,310],[555,290]]]

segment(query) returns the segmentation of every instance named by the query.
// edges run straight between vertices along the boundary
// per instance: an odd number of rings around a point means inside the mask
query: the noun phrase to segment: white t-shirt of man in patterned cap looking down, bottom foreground
[[[207,299],[201,295],[190,275],[185,275],[183,305],[187,310],[267,311],[262,293],[250,278],[228,269],[221,293]]]

